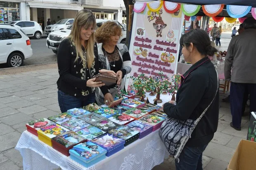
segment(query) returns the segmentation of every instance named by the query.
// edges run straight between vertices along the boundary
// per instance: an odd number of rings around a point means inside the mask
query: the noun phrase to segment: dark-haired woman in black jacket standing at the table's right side
[[[185,144],[179,162],[175,160],[176,170],[202,170],[202,153],[218,127],[218,74],[208,58],[217,50],[206,31],[200,29],[184,34],[180,45],[185,61],[192,66],[183,74],[176,101],[165,103],[164,112],[178,120],[197,120],[210,105]]]

